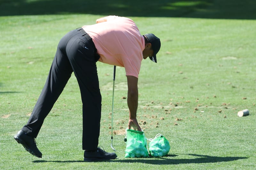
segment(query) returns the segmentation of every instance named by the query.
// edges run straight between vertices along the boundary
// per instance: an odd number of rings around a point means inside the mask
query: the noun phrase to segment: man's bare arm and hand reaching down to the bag
[[[134,76],[127,76],[127,85],[127,104],[130,111],[128,128],[131,129],[131,127],[133,127],[134,130],[141,131],[140,125],[136,118],[138,108],[138,78]]]

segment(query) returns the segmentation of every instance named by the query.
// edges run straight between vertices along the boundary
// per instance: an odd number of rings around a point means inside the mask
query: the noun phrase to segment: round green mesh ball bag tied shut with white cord
[[[170,151],[169,141],[161,134],[157,134],[148,144],[150,155],[154,157],[165,156]]]

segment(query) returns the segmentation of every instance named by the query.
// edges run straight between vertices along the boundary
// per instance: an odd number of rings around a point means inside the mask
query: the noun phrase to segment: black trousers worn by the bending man
[[[44,88],[22,130],[31,137],[37,137],[45,117],[74,72],[83,103],[83,150],[97,149],[101,117],[98,59],[94,43],[83,29],[67,33],[59,42]]]

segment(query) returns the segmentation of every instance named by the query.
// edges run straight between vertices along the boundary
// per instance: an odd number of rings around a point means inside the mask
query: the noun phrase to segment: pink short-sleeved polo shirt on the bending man
[[[99,61],[125,68],[126,76],[139,76],[145,40],[129,18],[108,16],[106,22],[83,26],[95,44]]]

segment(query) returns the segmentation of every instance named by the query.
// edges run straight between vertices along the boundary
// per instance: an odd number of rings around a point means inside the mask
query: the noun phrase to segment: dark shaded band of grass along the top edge
[[[256,19],[255,6],[253,0],[0,0],[0,16],[93,14]]]

